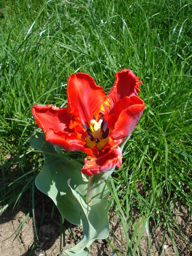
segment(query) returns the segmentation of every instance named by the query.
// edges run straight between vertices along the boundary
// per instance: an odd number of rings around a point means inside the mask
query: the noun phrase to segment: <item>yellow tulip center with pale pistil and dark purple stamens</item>
[[[104,120],[104,115],[100,117],[98,122],[94,116],[94,118],[90,121],[89,127],[85,124],[82,124],[82,127],[86,130],[90,140],[95,140],[97,149],[101,150],[108,141],[106,138],[109,135],[109,128],[107,128],[107,121]]]

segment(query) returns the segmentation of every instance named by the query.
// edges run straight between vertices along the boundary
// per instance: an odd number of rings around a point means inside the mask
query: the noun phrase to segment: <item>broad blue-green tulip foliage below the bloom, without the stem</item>
[[[45,158],[35,180],[37,188],[52,198],[63,220],[66,218],[75,225],[83,225],[82,240],[65,253],[68,256],[88,256],[88,247],[93,241],[104,239],[109,234],[108,211],[112,200],[108,200],[109,190],[105,182],[94,185],[91,204],[87,205],[88,180],[82,178],[81,164],[65,158],[62,151],[47,142],[42,133],[37,133],[31,144],[42,151]]]

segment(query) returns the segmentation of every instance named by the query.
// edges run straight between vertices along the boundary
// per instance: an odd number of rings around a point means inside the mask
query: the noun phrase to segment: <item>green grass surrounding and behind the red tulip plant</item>
[[[30,214],[38,206],[34,179],[43,162],[29,145],[37,129],[32,105],[62,106],[67,79],[77,71],[89,73],[108,92],[115,72],[130,68],[143,81],[146,107],[124,148],[122,168],[107,184],[128,255],[142,255],[139,243],[150,219],[163,225],[179,255],[173,232],[184,235],[173,205],[179,202],[191,214],[192,202],[191,8],[188,0],[1,0],[1,212],[19,207],[24,195]],[[136,225],[132,209],[140,212]]]

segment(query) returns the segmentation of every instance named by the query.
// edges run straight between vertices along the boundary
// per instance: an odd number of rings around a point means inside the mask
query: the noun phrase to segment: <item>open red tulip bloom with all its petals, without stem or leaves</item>
[[[122,69],[105,96],[88,74],[72,74],[67,83],[68,108],[34,105],[33,116],[47,141],[88,155],[82,173],[93,176],[120,168],[118,146],[133,132],[145,107],[138,97],[142,83],[138,79],[131,70]]]

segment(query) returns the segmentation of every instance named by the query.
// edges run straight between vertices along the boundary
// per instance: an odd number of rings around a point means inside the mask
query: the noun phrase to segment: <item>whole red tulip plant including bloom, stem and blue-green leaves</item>
[[[32,137],[31,144],[44,154],[44,165],[36,178],[40,191],[52,198],[62,219],[83,225],[83,237],[65,250],[69,256],[89,255],[95,239],[109,234],[108,211],[112,204],[103,182],[122,163],[120,144],[139,121],[144,102],[138,96],[142,82],[123,69],[107,96],[88,74],[68,79],[68,107],[34,105],[33,116],[45,132]],[[64,157],[62,150],[83,151],[88,156],[82,167]],[[81,172],[80,172],[81,170]]]

